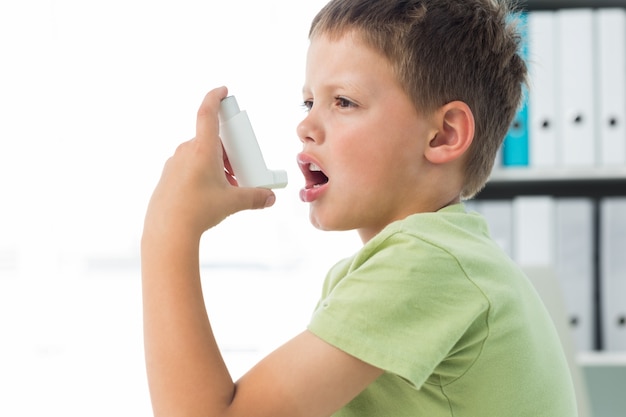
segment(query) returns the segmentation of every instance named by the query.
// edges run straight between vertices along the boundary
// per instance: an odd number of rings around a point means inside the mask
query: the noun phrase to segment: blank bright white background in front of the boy
[[[306,325],[324,270],[357,247],[313,230],[298,200],[306,35],[323,3],[0,0],[0,415],[149,415],[143,213],[219,85],[290,176],[274,208],[203,241],[233,373]]]

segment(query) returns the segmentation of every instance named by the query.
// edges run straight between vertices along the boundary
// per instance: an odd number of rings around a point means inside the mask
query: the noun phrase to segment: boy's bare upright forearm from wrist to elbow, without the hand
[[[200,282],[199,238],[145,232],[144,343],[155,415],[221,415],[233,381],[213,337]]]

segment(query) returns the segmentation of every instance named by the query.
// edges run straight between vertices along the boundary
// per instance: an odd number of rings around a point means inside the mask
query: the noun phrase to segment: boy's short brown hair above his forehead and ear
[[[355,31],[392,64],[416,109],[465,102],[475,119],[462,198],[487,182],[522,100],[526,64],[506,0],[331,0],[309,38]]]

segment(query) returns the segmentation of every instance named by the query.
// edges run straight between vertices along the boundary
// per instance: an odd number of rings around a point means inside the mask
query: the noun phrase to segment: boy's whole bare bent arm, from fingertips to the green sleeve
[[[222,88],[205,97],[196,138],[167,162],[146,213],[144,341],[154,414],[330,415],[382,371],[305,331],[235,384],[213,337],[200,283],[200,237],[232,213],[274,201],[270,190],[233,187],[224,173],[217,109],[225,96]]]

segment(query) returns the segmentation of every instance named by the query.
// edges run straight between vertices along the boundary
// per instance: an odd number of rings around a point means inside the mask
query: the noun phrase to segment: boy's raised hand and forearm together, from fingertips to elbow
[[[205,96],[196,137],[166,162],[144,221],[144,343],[158,416],[224,417],[233,403],[235,386],[202,297],[200,237],[231,214],[271,206],[275,197],[268,189],[236,186],[225,171],[217,113],[227,93],[217,88]]]

